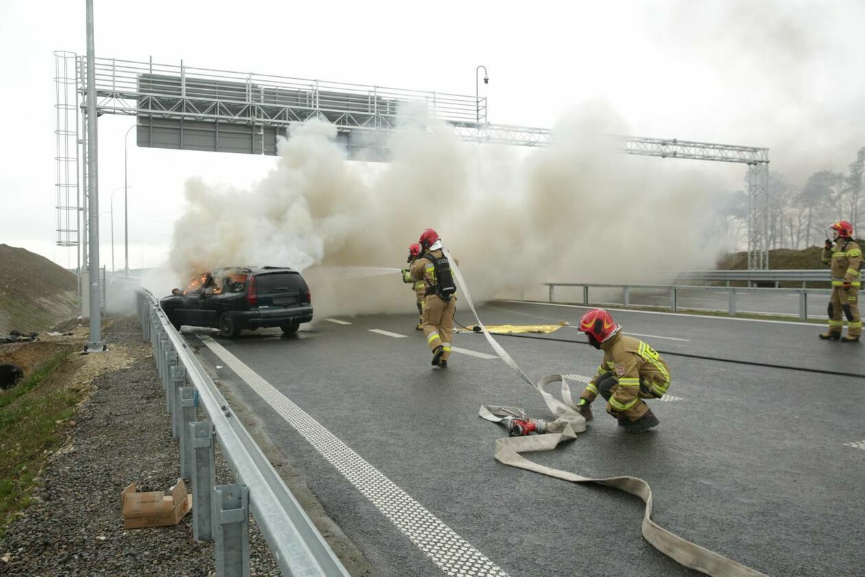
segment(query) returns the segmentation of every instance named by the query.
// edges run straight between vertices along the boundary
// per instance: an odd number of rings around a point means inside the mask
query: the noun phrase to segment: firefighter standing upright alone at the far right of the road
[[[859,287],[862,285],[862,248],[853,241],[853,225],[838,221],[831,226],[832,241],[827,239],[823,247],[824,265],[832,269],[832,296],[829,301],[829,330],[820,335],[822,339],[843,343],[858,343],[862,337],[862,317],[859,315]],[[842,337],[847,317],[847,337]]]

